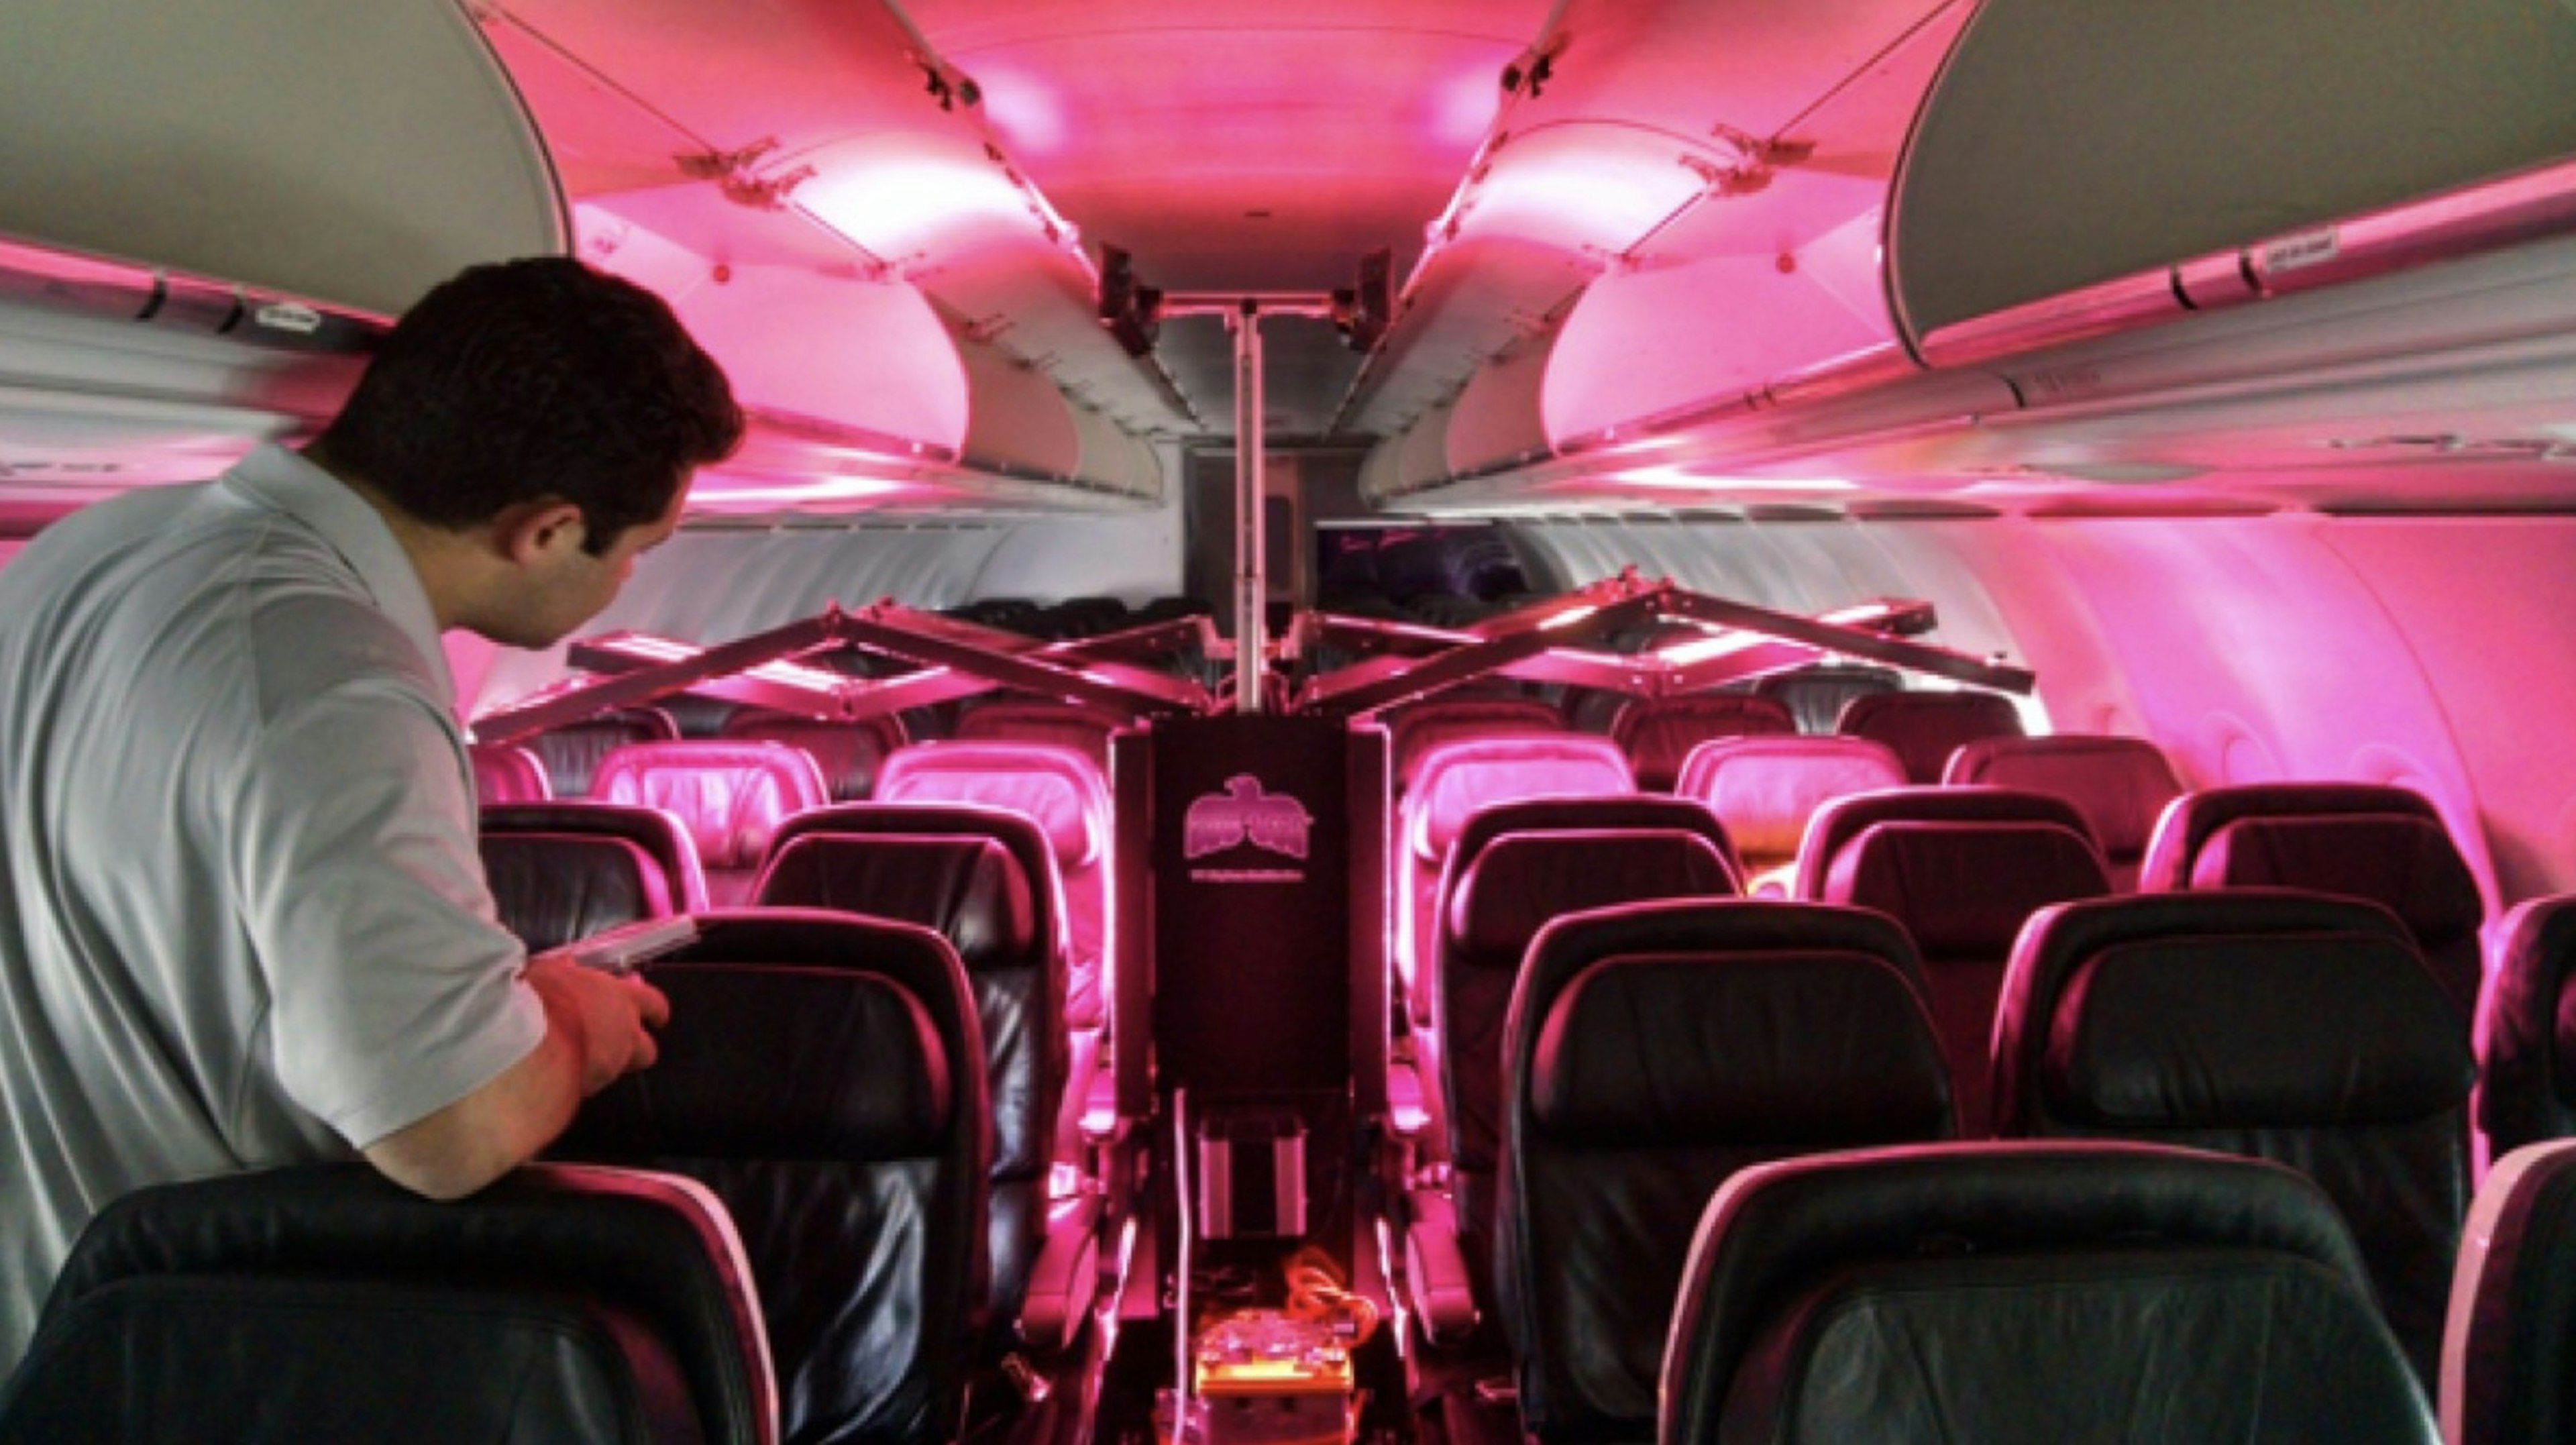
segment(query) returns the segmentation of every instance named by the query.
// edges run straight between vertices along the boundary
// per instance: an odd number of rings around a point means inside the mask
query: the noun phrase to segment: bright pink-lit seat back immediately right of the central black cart
[[[1412,1023],[1432,1017],[1430,961],[1440,945],[1440,871],[1479,809],[1520,798],[1636,793],[1628,757],[1607,737],[1525,732],[1463,737],[1432,747],[1396,809],[1396,979]]]

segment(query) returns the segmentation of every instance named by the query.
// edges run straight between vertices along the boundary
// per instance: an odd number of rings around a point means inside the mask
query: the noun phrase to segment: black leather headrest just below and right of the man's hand
[[[922,999],[884,974],[647,963],[670,997],[662,1056],[592,1095],[574,1157],[837,1159],[940,1154],[958,1069]]]

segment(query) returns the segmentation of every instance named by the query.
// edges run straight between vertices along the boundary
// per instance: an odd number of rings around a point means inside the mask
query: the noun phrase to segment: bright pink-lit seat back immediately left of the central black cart
[[[971,804],[1033,819],[1064,878],[1064,1017],[1074,1028],[1108,1020],[1110,788],[1090,757],[1046,742],[914,742],[886,757],[876,798]]]

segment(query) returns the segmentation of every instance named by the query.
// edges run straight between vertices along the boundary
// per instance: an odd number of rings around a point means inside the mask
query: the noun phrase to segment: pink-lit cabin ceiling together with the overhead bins
[[[477,242],[569,247],[752,402],[711,513],[1151,505],[1234,435],[1242,296],[1270,443],[1373,446],[1394,513],[2576,505],[2563,0],[363,13],[41,10],[0,54],[0,273],[21,237],[397,312]],[[263,85],[206,80],[227,46]],[[2543,170],[2468,260],[2344,283],[2339,222]],[[1167,296],[1144,355],[1097,317],[1113,247]],[[1363,353],[1301,309],[1373,250]],[[0,500],[175,479],[345,373],[54,332],[0,314],[77,392],[0,366]]]

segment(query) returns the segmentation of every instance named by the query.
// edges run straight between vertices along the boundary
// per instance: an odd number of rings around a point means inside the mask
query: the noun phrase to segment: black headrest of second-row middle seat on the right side
[[[2385,909],[2287,891],[2043,909],[1996,1023],[1996,1115],[2123,1128],[2313,1128],[2460,1108],[2458,1007]]]

